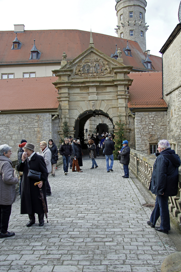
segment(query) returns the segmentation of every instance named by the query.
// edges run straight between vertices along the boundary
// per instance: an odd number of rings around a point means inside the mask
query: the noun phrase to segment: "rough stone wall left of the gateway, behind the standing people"
[[[40,152],[40,141],[48,141],[52,138],[59,143],[57,132],[58,118],[52,120],[49,113],[32,114],[1,114],[0,118],[0,144],[8,144],[12,147],[11,160],[17,159],[18,144],[22,139],[35,145],[35,152]]]

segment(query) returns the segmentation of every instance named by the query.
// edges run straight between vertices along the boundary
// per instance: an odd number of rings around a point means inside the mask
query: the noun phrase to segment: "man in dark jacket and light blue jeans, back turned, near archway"
[[[115,150],[114,143],[112,142],[112,136],[108,137],[108,140],[104,141],[104,154],[106,155],[106,167],[107,172],[112,171],[113,172],[113,163],[114,163],[114,157],[113,157],[113,150]],[[109,159],[111,160],[110,166],[109,166]]]

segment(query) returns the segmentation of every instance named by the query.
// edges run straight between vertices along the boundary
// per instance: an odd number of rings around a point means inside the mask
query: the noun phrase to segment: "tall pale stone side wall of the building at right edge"
[[[181,32],[163,54],[163,93],[168,104],[168,140],[176,143],[176,153],[181,156]],[[168,94],[168,92],[176,89]],[[166,95],[168,94],[168,95]]]

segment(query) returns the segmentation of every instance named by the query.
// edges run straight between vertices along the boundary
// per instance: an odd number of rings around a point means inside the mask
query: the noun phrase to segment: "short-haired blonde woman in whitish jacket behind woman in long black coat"
[[[50,149],[48,148],[46,141],[40,142],[40,148],[41,148],[40,156],[42,156],[44,158],[47,171],[50,174],[50,172],[52,171],[52,163],[51,163],[52,153],[51,153]],[[51,192],[50,184],[47,179],[47,181],[46,181],[46,196],[51,196],[51,194],[52,194],[52,192]]]

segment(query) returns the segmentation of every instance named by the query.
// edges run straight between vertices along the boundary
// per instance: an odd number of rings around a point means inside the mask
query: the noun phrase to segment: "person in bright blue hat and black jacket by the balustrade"
[[[120,154],[120,161],[119,163],[123,164],[123,169],[124,169],[124,176],[122,176],[123,178],[129,178],[129,161],[130,161],[130,148],[128,146],[128,141],[125,140],[122,142],[122,149],[119,152]]]

